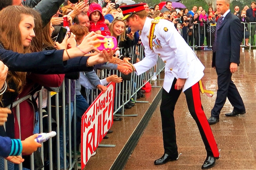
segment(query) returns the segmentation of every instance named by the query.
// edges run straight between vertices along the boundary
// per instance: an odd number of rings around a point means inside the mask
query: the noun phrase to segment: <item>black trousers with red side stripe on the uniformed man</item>
[[[174,79],[172,88],[169,93],[163,89],[162,102],[160,106],[164,150],[165,153],[172,156],[172,158],[178,157],[178,147],[176,144],[176,131],[173,112],[176,102],[182,91],[174,89],[176,81],[177,79]],[[198,126],[207,154],[213,155],[214,157],[219,157],[217,144],[215,142],[211,127],[208,124],[201,104],[198,83],[185,90],[184,93],[186,95],[189,112]]]

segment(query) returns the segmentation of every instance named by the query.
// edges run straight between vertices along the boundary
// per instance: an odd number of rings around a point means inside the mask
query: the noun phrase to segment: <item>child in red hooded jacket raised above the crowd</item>
[[[107,24],[105,24],[105,18],[102,15],[102,10],[99,4],[92,3],[89,6],[87,15],[90,20],[89,32],[94,31],[96,34],[110,35]]]

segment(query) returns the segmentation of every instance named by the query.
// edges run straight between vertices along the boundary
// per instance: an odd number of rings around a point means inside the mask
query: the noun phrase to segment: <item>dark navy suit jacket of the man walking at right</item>
[[[241,41],[241,22],[236,15],[229,12],[217,30],[217,51],[213,55],[213,66],[219,69],[229,69],[230,63],[239,64]]]

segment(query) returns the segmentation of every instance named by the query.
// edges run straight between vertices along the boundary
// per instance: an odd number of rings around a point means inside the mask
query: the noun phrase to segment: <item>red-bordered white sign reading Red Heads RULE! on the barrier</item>
[[[108,90],[100,93],[82,116],[82,169],[113,124],[115,83],[111,82],[107,87]]]

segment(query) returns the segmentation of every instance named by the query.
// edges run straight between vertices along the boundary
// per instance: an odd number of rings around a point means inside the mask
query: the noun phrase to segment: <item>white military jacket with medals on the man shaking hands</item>
[[[134,64],[136,74],[146,72],[157,63],[157,56],[165,62],[165,78],[163,88],[169,92],[174,78],[187,79],[183,91],[197,83],[204,75],[204,66],[195,55],[194,51],[187,45],[178,33],[173,23],[161,19],[155,26],[153,44],[159,44],[159,48],[154,46],[152,51],[148,44],[147,35],[149,34],[151,21],[147,18],[141,32],[140,38],[145,47],[145,58]]]

